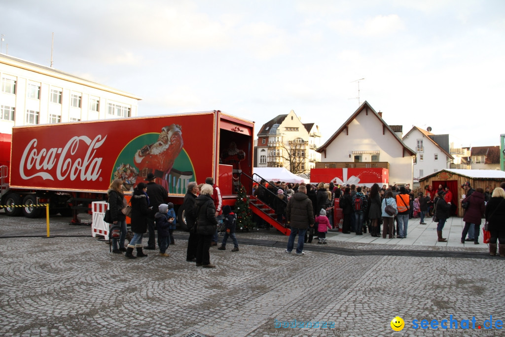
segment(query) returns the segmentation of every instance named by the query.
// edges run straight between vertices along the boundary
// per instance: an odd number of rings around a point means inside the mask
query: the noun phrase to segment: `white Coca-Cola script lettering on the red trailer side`
[[[19,165],[19,174],[23,179],[41,177],[42,179],[55,180],[51,172],[56,165],[56,177],[58,180],[70,178],[81,181],[94,181],[98,179],[102,169],[103,158],[95,158],[96,149],[103,145],[107,136],[97,135],[94,139],[87,136],[74,136],[69,139],[63,148],[37,148],[37,139],[30,140]],[[83,153],[82,147],[86,146],[84,158],[77,157],[77,153]],[[77,157],[77,158],[76,158]],[[33,169],[36,173],[28,175]]]

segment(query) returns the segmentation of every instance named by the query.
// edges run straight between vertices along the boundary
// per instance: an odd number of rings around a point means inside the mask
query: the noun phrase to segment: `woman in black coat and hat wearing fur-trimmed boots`
[[[150,213],[149,197],[146,194],[147,186],[141,182],[133,190],[131,197],[131,230],[133,231],[133,238],[126,248],[126,257],[133,259],[133,249],[137,249],[136,257],[144,257],[147,254],[142,252],[142,236],[147,231],[147,215]]]

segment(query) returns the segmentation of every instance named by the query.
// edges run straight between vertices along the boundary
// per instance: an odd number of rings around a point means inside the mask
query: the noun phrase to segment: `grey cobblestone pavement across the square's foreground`
[[[129,260],[68,221],[51,218],[51,233],[66,237],[28,237],[45,235],[45,219],[0,213],[0,335],[505,335],[495,325],[505,320],[505,258],[482,258],[482,248],[332,241],[334,250],[307,245],[296,256],[284,253],[285,236],[260,230],[239,233],[239,252],[212,247],[217,268],[203,269],[185,261],[186,233],[177,232],[168,258],[146,251]],[[382,255],[358,254],[368,251]],[[433,251],[447,256],[423,256]],[[455,253],[467,255],[448,257]],[[475,317],[475,329],[413,328],[450,315],[458,327]],[[400,334],[395,316],[405,320]]]

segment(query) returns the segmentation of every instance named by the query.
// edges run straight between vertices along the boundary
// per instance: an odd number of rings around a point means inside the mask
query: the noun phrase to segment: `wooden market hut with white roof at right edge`
[[[470,181],[470,185],[474,189],[482,187],[485,190],[486,187],[489,187],[489,190],[492,191],[505,181],[505,172],[500,170],[443,169],[420,178],[419,184],[423,191],[429,185],[433,186],[434,191],[437,190],[439,184],[444,188],[448,186],[452,192],[452,205],[457,206],[456,215],[463,217],[461,198],[465,194],[465,190],[461,188],[461,185],[466,181]]]

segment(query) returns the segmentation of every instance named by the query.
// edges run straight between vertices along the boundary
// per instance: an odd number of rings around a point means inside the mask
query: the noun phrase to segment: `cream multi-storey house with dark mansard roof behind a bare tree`
[[[285,167],[292,173],[309,173],[321,155],[319,126],[302,123],[293,110],[263,124],[258,132],[257,167]]]

